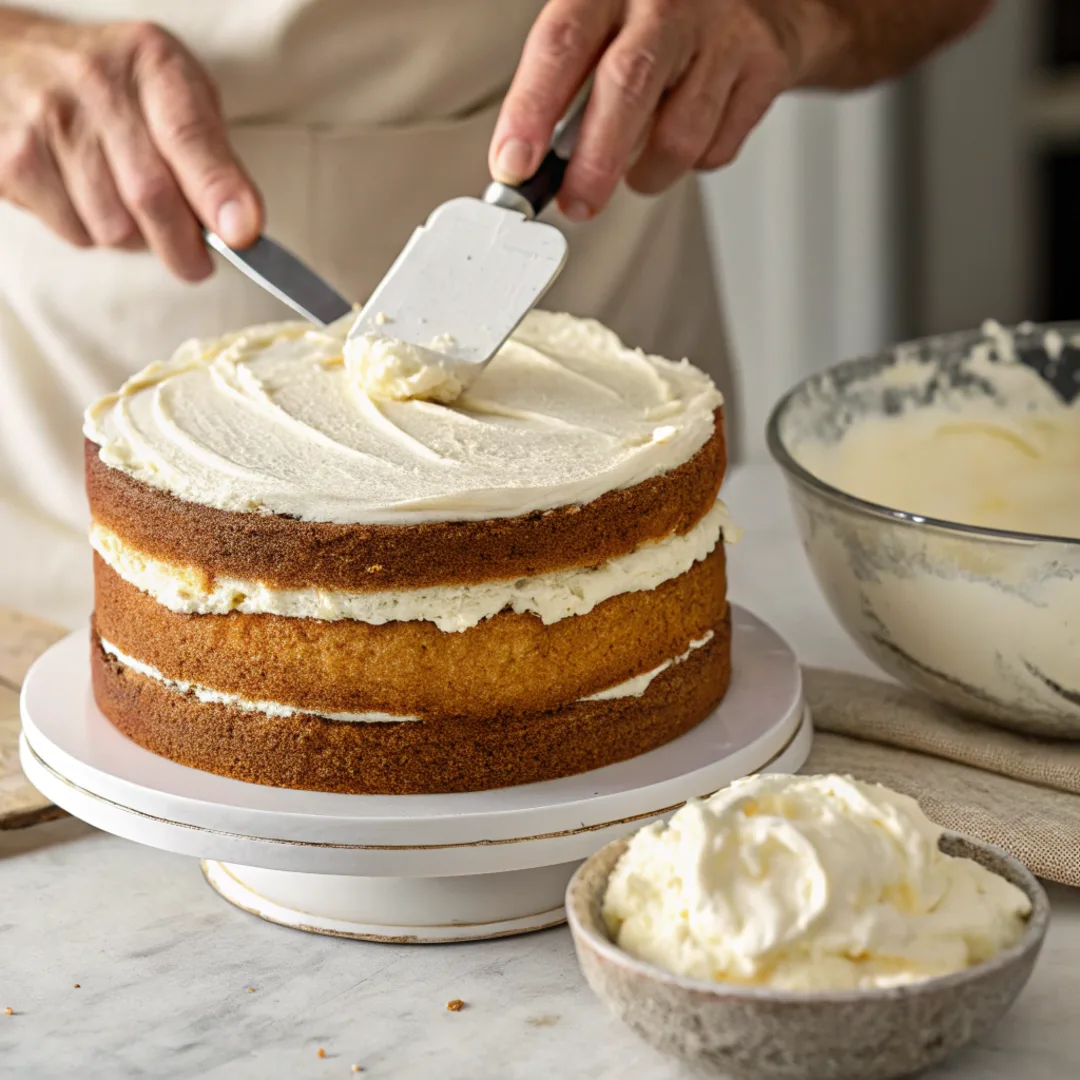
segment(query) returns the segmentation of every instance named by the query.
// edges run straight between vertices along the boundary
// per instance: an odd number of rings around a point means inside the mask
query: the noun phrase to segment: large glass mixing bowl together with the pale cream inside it
[[[1080,326],[929,338],[812,376],[769,445],[829,606],[964,713],[1080,738]]]

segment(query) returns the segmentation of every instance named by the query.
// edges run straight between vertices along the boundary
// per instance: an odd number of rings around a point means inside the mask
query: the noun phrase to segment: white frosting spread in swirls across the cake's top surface
[[[719,392],[686,361],[534,311],[453,404],[373,400],[347,316],[189,341],[86,411],[102,460],[181,499],[305,521],[413,524],[584,503],[669,472]]]

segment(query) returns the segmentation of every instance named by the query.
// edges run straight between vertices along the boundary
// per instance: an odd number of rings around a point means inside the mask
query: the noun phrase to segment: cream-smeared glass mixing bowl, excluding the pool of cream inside
[[[1056,738],[1080,738],[1080,541],[868,502],[813,475],[804,456],[868,416],[942,405],[1008,415],[1048,394],[1072,401],[1078,332],[972,330],[849,361],[795,387],[768,427],[814,576],[860,648],[945,705]]]

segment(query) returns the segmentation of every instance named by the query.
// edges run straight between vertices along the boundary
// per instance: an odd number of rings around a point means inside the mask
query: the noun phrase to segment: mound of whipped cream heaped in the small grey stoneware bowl
[[[1031,904],[939,848],[919,805],[848,777],[757,775],[638,832],[608,881],[619,946],[694,978],[825,990],[962,971]]]

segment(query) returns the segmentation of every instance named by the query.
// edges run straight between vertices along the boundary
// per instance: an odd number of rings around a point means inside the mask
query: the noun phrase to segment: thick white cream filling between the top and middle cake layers
[[[646,592],[686,573],[708,556],[720,539],[734,540],[738,529],[717,499],[688,532],[644,544],[598,567],[555,570],[532,578],[485,581],[472,585],[343,592],[327,589],[272,589],[258,581],[217,578],[210,588],[194,567],[176,566],[129,546],[102,525],[91,528],[90,542],[129,584],[181,615],[278,615],[297,619],[352,619],[379,625],[427,620],[451,633],[469,630],[500,611],[530,612],[545,624],[588,615],[622,593]]]

